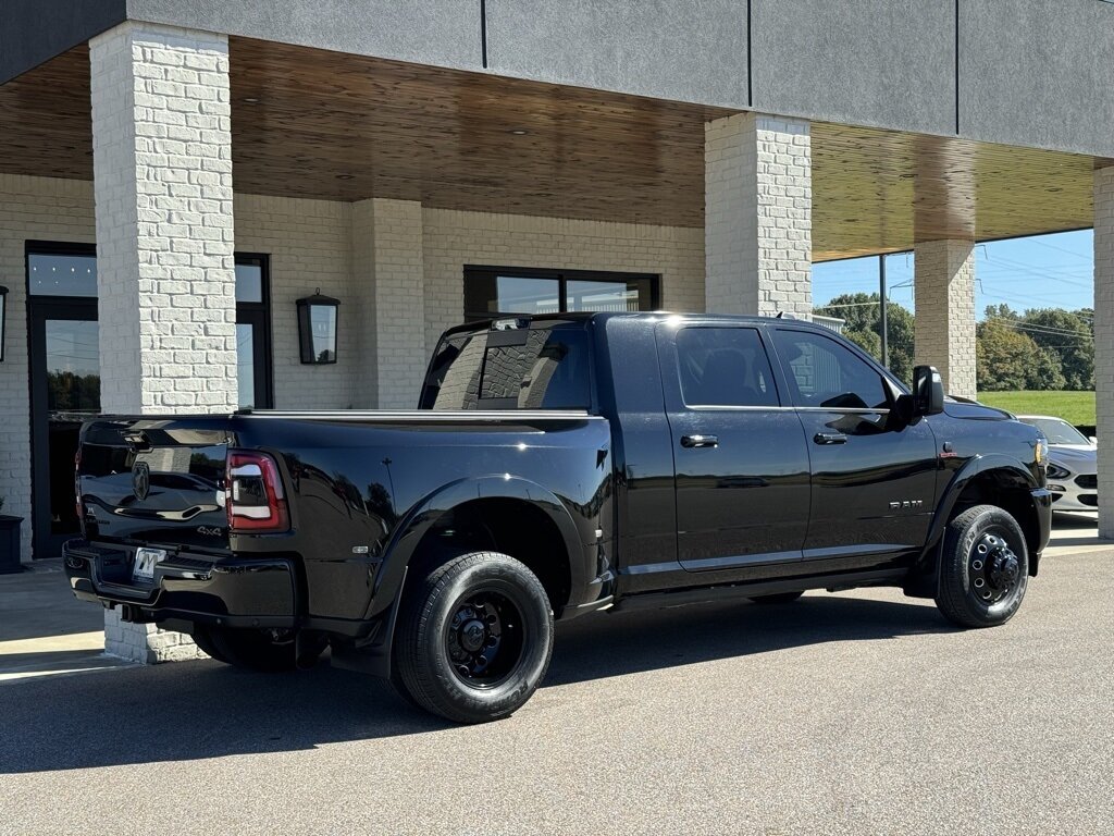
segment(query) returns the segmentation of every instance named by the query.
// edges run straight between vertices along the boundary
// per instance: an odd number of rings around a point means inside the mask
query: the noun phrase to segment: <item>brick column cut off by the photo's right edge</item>
[[[1095,420],[1098,536],[1114,538],[1114,168],[1095,172]]]

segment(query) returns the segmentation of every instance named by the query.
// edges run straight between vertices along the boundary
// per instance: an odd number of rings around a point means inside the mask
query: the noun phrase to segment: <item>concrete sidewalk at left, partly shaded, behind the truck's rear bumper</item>
[[[60,560],[0,576],[0,682],[130,664],[104,651],[104,611],[74,597]]]

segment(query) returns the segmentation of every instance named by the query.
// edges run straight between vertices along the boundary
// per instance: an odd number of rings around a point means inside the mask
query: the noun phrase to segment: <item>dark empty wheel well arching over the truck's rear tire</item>
[[[568,603],[571,572],[560,529],[536,505],[521,499],[489,498],[463,503],[442,514],[414,552],[422,568],[462,550],[502,552],[524,563],[541,582],[554,614]]]

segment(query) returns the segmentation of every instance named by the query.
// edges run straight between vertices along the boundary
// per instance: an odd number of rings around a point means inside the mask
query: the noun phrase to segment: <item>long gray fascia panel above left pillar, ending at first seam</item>
[[[127,0],[128,18],[457,69],[482,66],[479,0]]]

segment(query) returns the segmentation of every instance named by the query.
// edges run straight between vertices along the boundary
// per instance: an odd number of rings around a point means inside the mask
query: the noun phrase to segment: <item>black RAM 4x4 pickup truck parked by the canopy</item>
[[[783,319],[561,314],[448,331],[413,411],[102,416],[78,597],[215,659],[388,677],[505,717],[554,620],[897,586],[1007,621],[1048,541],[1047,446]]]

